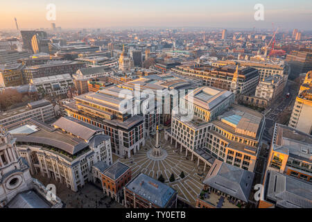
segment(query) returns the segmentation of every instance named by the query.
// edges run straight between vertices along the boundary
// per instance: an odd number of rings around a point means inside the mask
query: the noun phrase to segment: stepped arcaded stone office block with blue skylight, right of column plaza
[[[263,114],[232,105],[225,108],[214,121],[207,123],[199,118],[191,120],[183,115],[173,117],[171,130],[165,131],[165,139],[180,152],[184,148],[191,160],[197,158],[204,163],[204,171],[214,159],[234,165],[246,171],[254,171],[259,142],[264,127]]]

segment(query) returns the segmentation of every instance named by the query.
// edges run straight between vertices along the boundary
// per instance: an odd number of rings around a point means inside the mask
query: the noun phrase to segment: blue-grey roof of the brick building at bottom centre
[[[177,194],[177,191],[168,185],[150,178],[144,173],[140,173],[131,180],[126,188],[159,207],[166,207],[168,201]]]

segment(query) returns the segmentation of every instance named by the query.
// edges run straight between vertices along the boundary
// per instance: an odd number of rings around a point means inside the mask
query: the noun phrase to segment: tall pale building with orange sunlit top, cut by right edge
[[[312,71],[306,74],[300,86],[289,125],[307,134],[312,134]]]

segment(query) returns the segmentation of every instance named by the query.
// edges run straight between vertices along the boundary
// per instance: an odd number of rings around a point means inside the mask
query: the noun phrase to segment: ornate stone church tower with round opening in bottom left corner
[[[60,208],[62,201],[47,198],[48,190],[31,178],[29,167],[17,152],[16,140],[0,129],[0,208]]]

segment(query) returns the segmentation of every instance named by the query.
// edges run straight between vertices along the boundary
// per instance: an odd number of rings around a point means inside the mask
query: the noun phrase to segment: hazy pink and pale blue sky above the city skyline
[[[311,0],[0,0],[0,29],[109,28],[112,26],[205,26],[224,28],[299,28],[312,30]],[[56,20],[46,19],[54,3]],[[264,21],[254,20],[254,5],[264,6]]]

